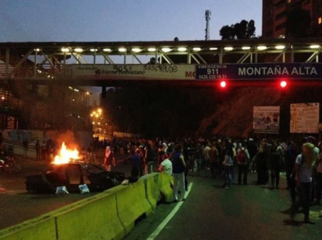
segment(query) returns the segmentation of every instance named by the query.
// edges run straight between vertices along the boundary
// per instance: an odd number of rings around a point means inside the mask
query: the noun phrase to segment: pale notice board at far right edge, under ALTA
[[[293,103],[290,106],[290,133],[318,133],[319,103]]]

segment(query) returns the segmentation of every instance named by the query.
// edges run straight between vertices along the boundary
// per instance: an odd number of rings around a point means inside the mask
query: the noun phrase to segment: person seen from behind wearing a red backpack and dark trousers
[[[243,183],[247,185],[249,160],[250,160],[250,154],[246,148],[246,145],[243,144],[241,148],[237,150],[237,154],[236,154],[236,162],[238,166],[238,185],[241,184],[241,175],[244,175]]]

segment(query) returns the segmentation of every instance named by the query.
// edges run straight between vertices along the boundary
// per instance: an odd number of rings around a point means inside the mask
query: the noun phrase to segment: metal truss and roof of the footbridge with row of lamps
[[[64,65],[321,62],[321,39],[0,43],[0,79],[62,78]]]

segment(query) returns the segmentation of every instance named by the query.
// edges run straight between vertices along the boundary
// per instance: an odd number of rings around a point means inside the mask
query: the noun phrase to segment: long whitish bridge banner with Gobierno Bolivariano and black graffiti
[[[70,64],[64,66],[63,76],[85,80],[195,80],[195,65]]]

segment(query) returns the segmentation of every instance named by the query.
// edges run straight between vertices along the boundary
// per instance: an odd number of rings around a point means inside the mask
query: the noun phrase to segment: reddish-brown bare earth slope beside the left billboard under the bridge
[[[198,133],[247,138],[253,132],[253,107],[280,105],[282,101],[281,91],[275,88],[244,87],[234,92],[203,119]]]

